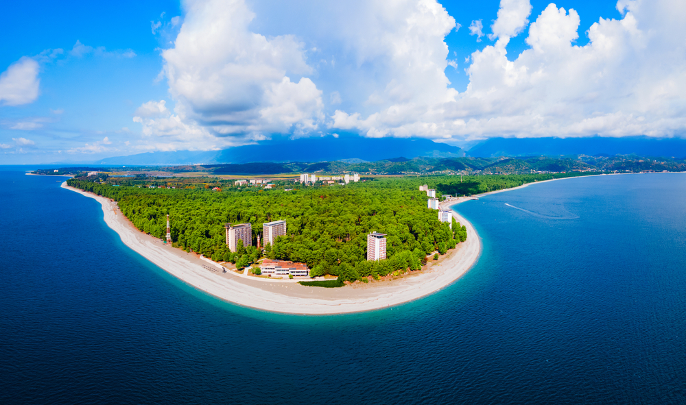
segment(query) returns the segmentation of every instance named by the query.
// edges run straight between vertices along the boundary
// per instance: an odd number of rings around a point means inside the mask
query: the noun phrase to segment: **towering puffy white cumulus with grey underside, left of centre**
[[[322,92],[307,77],[302,42],[251,32],[243,0],[193,0],[174,47],[163,51],[169,90],[190,119],[216,136],[316,128]]]

